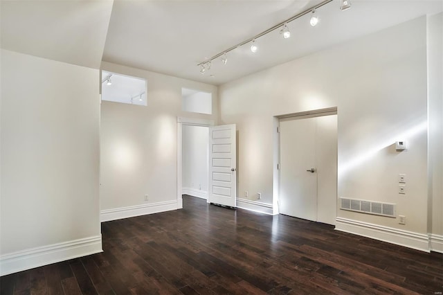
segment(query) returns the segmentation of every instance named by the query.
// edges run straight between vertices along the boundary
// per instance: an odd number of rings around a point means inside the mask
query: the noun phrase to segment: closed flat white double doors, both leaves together
[[[335,224],[337,116],[280,120],[280,213]]]

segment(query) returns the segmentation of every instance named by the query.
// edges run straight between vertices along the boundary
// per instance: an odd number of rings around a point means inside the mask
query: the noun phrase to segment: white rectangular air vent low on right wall
[[[395,217],[395,204],[365,201],[362,199],[348,199],[343,197],[341,197],[340,199],[340,208],[342,210]]]

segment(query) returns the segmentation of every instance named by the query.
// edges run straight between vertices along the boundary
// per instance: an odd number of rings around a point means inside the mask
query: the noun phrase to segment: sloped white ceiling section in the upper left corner
[[[99,69],[112,4],[1,0],[1,48]]]

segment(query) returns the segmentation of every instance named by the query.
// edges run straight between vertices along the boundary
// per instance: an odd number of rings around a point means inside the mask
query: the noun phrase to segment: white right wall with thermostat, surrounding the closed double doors
[[[338,197],[395,203],[407,222],[338,217],[425,237],[426,17],[224,84],[219,103],[220,123],[237,124],[239,195],[262,192],[267,204],[278,197],[273,116],[338,107]],[[396,152],[395,140],[408,141],[408,150]],[[407,175],[406,195],[398,194],[399,173]]]

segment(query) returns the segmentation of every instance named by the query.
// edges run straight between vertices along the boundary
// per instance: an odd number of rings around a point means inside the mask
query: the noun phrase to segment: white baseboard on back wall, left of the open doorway
[[[177,210],[177,199],[173,201],[143,204],[123,208],[114,208],[100,211],[100,221],[121,220],[123,218],[135,217],[165,211]]]

